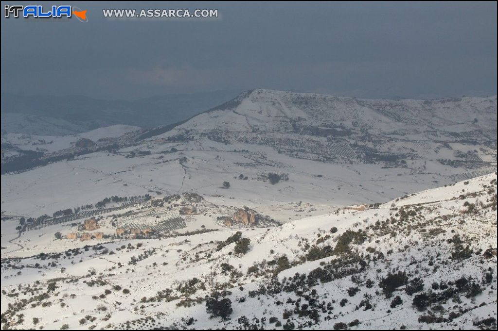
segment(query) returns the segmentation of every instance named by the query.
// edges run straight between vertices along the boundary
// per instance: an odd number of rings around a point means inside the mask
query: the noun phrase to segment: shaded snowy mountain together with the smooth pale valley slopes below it
[[[289,221],[384,202],[496,171],[496,109],[496,96],[361,100],[256,89],[173,128],[34,156],[29,171],[2,174],[2,212],[36,218],[112,195],[196,192]],[[272,173],[286,180],[271,183]],[[295,212],[300,203],[310,208]]]

